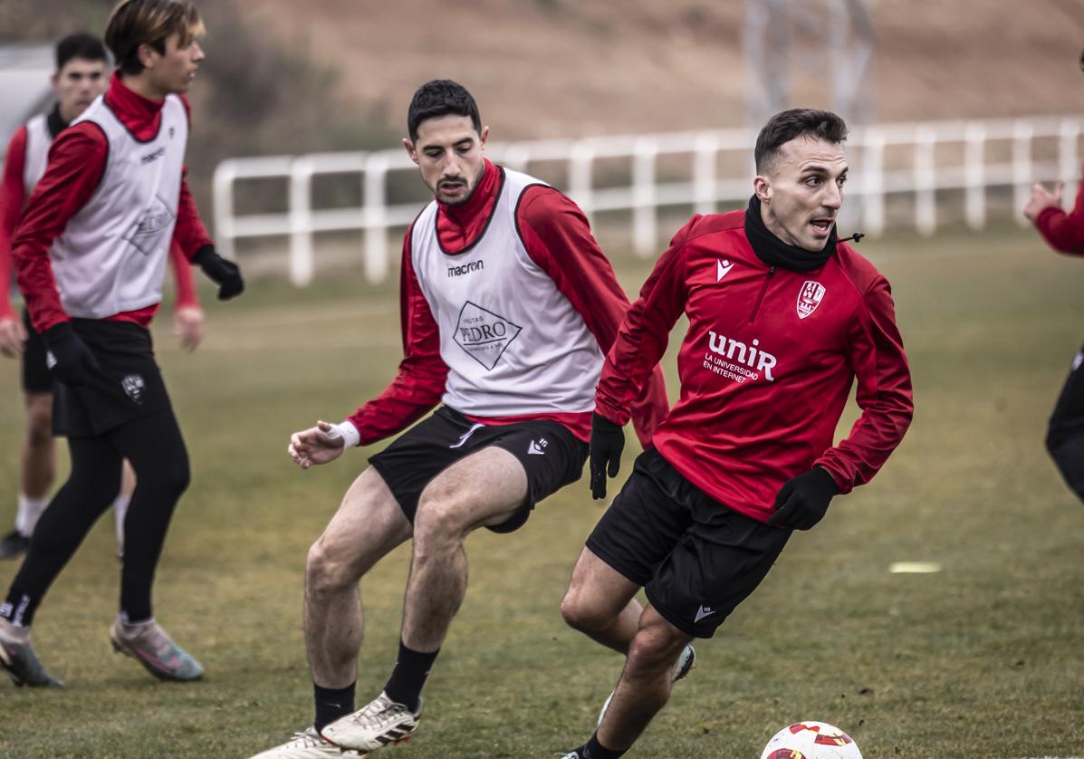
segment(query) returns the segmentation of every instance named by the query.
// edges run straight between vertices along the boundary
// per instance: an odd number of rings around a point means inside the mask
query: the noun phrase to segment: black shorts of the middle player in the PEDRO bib
[[[580,478],[588,458],[588,443],[557,422],[481,425],[442,406],[370,458],[369,463],[414,524],[417,501],[433,478],[490,446],[508,451],[527,472],[527,498],[509,519],[488,528],[494,532],[513,532],[522,527],[535,503]]]

